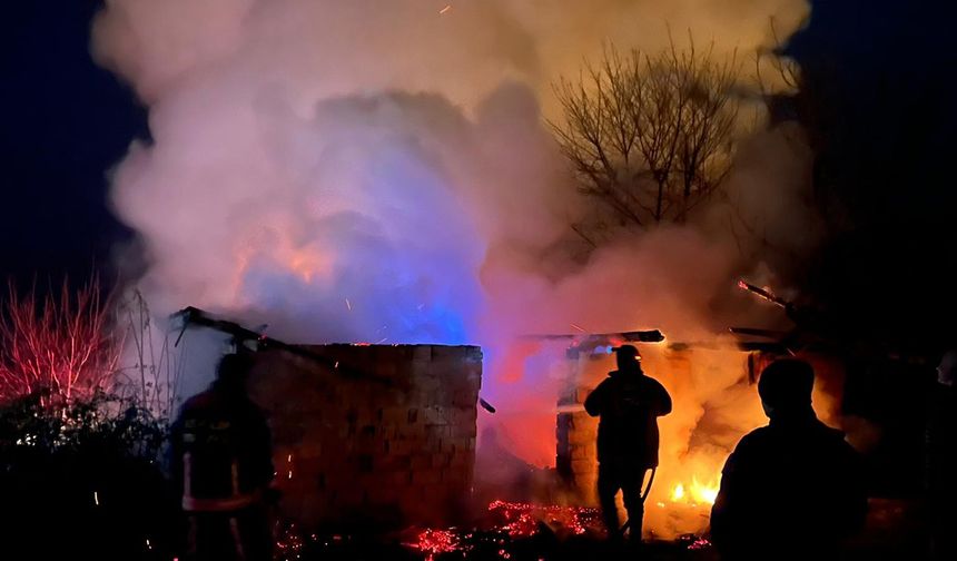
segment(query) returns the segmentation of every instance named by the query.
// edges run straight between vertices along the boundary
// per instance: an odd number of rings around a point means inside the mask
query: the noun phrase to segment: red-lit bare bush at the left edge
[[[151,317],[139,291],[120,298],[96,276],[76,291],[63,280],[46,296],[10,283],[0,294],[0,405],[38,392],[51,404],[103,391],[170,415],[185,362],[170,343],[176,334],[156,332]]]

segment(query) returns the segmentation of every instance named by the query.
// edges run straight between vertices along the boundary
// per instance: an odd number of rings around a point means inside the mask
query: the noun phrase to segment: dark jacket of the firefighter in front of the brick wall
[[[199,500],[264,493],[273,480],[265,416],[244,392],[221,383],[182,405],[171,440],[171,471],[180,493],[187,486],[186,454],[189,494]]]

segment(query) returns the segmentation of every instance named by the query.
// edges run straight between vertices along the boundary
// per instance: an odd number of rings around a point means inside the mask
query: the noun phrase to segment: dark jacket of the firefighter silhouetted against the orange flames
[[[661,383],[641,371],[610,372],[585,398],[585,411],[601,416],[599,462],[658,466],[658,417],[671,413],[671,396]]]

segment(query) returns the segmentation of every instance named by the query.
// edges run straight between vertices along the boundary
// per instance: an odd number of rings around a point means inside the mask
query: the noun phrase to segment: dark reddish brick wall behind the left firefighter
[[[250,395],[273,431],[283,514],[306,528],[454,523],[472,486],[482,351],[308,348],[388,383],[260,355]]]

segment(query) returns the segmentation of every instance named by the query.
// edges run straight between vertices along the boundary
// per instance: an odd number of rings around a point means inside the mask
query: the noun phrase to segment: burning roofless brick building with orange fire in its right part
[[[237,341],[259,342],[250,391],[269,417],[288,520],[306,528],[434,526],[474,512],[468,506],[475,506],[478,347],[293,346],[196,308],[184,313]],[[554,395],[554,481],[562,489],[549,490],[546,501],[562,496],[575,506],[596,504],[598,420],[582,403],[613,370],[610,350],[622,335],[571,337]],[[631,335],[663,341],[657,331]],[[764,424],[752,386],[779,353],[752,347],[740,342],[644,346],[645,371],[674,402],[674,413],[660,421],[658,483],[649,482],[647,528],[653,534],[703,531],[727,455],[740,436]],[[823,355],[802,357],[816,365],[819,415],[837,424],[843,371]]]

